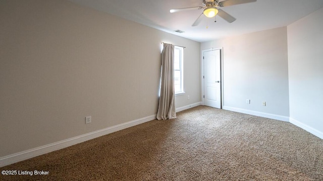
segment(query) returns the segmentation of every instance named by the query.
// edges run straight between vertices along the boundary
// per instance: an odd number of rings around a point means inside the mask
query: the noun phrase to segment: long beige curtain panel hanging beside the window
[[[164,43],[161,52],[161,84],[158,120],[176,118],[174,85],[174,45]]]

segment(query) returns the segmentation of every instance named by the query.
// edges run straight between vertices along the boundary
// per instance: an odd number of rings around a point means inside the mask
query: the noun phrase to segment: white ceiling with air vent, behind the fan
[[[202,0],[68,1],[198,42],[287,26],[323,7],[323,0],[257,0],[221,8],[237,19],[231,24],[218,16],[217,23],[204,16],[192,27],[202,10],[170,13],[170,9],[203,6]],[[174,32],[178,29],[185,33]]]

